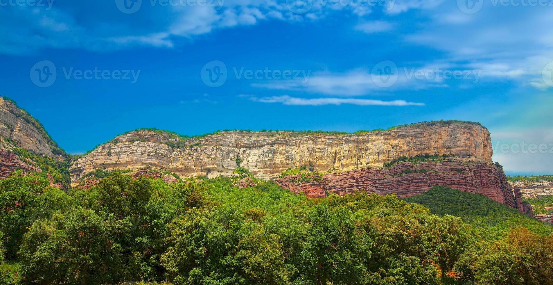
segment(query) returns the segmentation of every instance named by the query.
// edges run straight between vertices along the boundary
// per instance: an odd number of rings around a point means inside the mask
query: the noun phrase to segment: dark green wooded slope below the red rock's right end
[[[463,221],[489,231],[492,236],[505,236],[510,229],[528,227],[541,235],[550,235],[553,226],[531,218],[517,209],[499,204],[481,194],[434,186],[426,193],[404,198],[409,203],[424,205],[439,216],[459,216]]]

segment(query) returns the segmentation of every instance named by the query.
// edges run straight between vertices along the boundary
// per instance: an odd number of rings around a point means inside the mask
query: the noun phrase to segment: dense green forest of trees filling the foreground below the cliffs
[[[44,178],[15,175],[0,180],[0,231],[3,284],[546,284],[553,277],[552,237],[524,228],[493,240],[460,217],[395,195],[307,199],[270,182],[239,189],[223,177],[169,184],[113,173],[66,194]]]

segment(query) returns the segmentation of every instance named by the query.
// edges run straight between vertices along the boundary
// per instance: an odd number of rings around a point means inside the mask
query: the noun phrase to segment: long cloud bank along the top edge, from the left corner
[[[157,4],[152,6],[151,3]],[[0,27],[0,53],[29,54],[43,48],[76,48],[105,52],[140,45],[173,48],[175,38],[178,37],[193,38],[211,33],[213,30],[255,25],[264,20],[315,21],[337,12],[362,18],[375,9],[388,11],[387,7],[362,5],[355,0],[312,1],[311,9],[305,14],[290,11],[286,0],[225,0],[220,7],[161,6],[159,3],[144,0],[139,11],[133,14],[121,13],[113,1],[87,4],[59,0],[50,10],[29,6],[0,9],[0,18],[3,22],[10,23],[9,27]],[[393,3],[390,8],[398,9],[390,10],[391,13],[428,7],[425,1],[413,0],[385,0],[378,3]],[[84,9],[87,13],[77,13]],[[387,29],[384,22],[375,24],[380,27],[370,28],[367,24],[359,28],[366,32],[370,32],[371,29]]]

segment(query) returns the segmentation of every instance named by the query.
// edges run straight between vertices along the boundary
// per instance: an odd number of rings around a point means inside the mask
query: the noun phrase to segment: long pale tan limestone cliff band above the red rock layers
[[[180,143],[180,147],[175,144]],[[184,144],[184,145],[183,145]],[[153,131],[135,131],[102,144],[71,167],[71,179],[100,167],[138,169],[148,165],[181,176],[232,175],[240,166],[258,178],[276,178],[288,168],[311,164],[315,170],[380,166],[400,156],[456,154],[491,162],[488,129],[474,124],[398,127],[362,134],[298,132],[218,132],[185,142]]]

